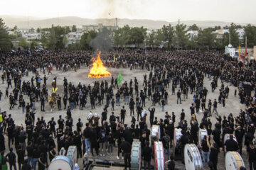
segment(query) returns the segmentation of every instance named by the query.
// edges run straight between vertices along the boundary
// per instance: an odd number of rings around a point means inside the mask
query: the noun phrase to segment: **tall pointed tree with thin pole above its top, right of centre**
[[[180,47],[185,47],[186,42],[188,42],[188,35],[187,30],[186,30],[186,25],[184,25],[183,23],[177,25],[175,27],[175,36],[174,36],[174,43],[177,47],[177,49],[179,49]]]

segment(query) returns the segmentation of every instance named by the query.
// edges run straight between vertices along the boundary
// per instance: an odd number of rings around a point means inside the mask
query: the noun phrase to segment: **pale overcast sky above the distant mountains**
[[[0,15],[256,23],[256,0],[0,0]]]

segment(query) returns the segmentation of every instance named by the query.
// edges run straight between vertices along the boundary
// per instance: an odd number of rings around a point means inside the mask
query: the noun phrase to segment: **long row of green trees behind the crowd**
[[[153,30],[146,33],[147,29],[143,27],[131,28],[128,25],[115,30],[102,28],[101,30],[89,31],[83,33],[80,41],[68,45],[68,50],[91,50],[99,48],[101,50],[109,50],[112,47],[165,47],[166,49],[183,49],[183,50],[224,50],[224,47],[229,44],[229,40],[234,47],[245,45],[245,38],[239,39],[238,29],[241,26],[231,23],[226,26],[229,33],[225,33],[223,38],[217,38],[213,31],[220,29],[220,26],[215,28],[201,29],[193,24],[187,27],[184,24],[176,26],[163,26],[158,30]],[[49,49],[63,49],[68,43],[66,35],[75,32],[76,26],[71,29],[68,26],[52,26],[51,28],[37,28],[36,32],[41,33],[40,40],[31,40],[28,43],[22,38],[15,26],[14,34],[9,35],[4,21],[0,18],[0,50],[9,51],[13,47],[13,43],[18,42],[18,45],[24,48],[34,48],[41,44]],[[198,31],[197,36],[189,35],[190,30]],[[247,25],[244,27],[245,35],[247,36],[247,47],[256,45],[256,27]],[[32,30],[31,30],[32,31]]]

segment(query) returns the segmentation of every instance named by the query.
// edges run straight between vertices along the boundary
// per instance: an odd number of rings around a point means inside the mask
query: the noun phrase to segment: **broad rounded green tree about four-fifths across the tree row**
[[[211,28],[201,29],[198,33],[198,45],[199,47],[206,48],[210,50],[213,48],[216,35],[213,34]]]

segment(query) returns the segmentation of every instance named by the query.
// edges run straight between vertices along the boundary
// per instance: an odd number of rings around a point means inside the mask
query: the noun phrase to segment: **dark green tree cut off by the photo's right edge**
[[[253,47],[256,45],[256,27],[248,24],[245,26],[245,37],[247,37],[247,47]]]

